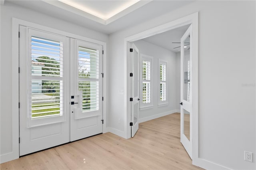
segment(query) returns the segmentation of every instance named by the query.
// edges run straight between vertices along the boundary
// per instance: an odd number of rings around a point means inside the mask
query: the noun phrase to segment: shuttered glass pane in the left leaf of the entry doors
[[[31,37],[32,119],[63,115],[63,43]]]

